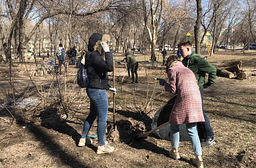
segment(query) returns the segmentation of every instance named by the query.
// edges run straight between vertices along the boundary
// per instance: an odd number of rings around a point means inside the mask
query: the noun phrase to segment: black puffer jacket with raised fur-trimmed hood
[[[108,72],[113,71],[113,54],[105,52],[105,60],[94,46],[101,40],[101,34],[92,34],[89,39],[88,52],[86,53],[86,70],[90,80],[88,88],[109,89]],[[98,47],[101,49],[101,47]]]

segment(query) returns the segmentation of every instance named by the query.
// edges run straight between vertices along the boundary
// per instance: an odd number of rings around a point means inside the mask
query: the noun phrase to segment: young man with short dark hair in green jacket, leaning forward
[[[201,92],[202,108],[203,108],[203,89],[210,87],[216,80],[216,68],[207,62],[204,58],[201,58],[199,54],[192,51],[191,42],[181,42],[179,44],[179,50],[183,56],[183,65],[188,67],[195,74],[195,78],[198,81],[198,86]],[[208,81],[205,83],[205,73],[208,73]],[[210,120],[207,118],[203,109],[203,116],[205,122],[198,122],[197,129],[199,138],[201,139],[201,146],[212,146],[216,144],[214,140],[214,132],[210,124]]]

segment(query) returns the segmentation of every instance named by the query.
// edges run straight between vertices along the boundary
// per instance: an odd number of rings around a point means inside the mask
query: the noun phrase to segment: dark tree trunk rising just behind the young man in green
[[[195,53],[200,54],[200,26],[202,19],[201,0],[197,0],[197,21],[195,22]]]

